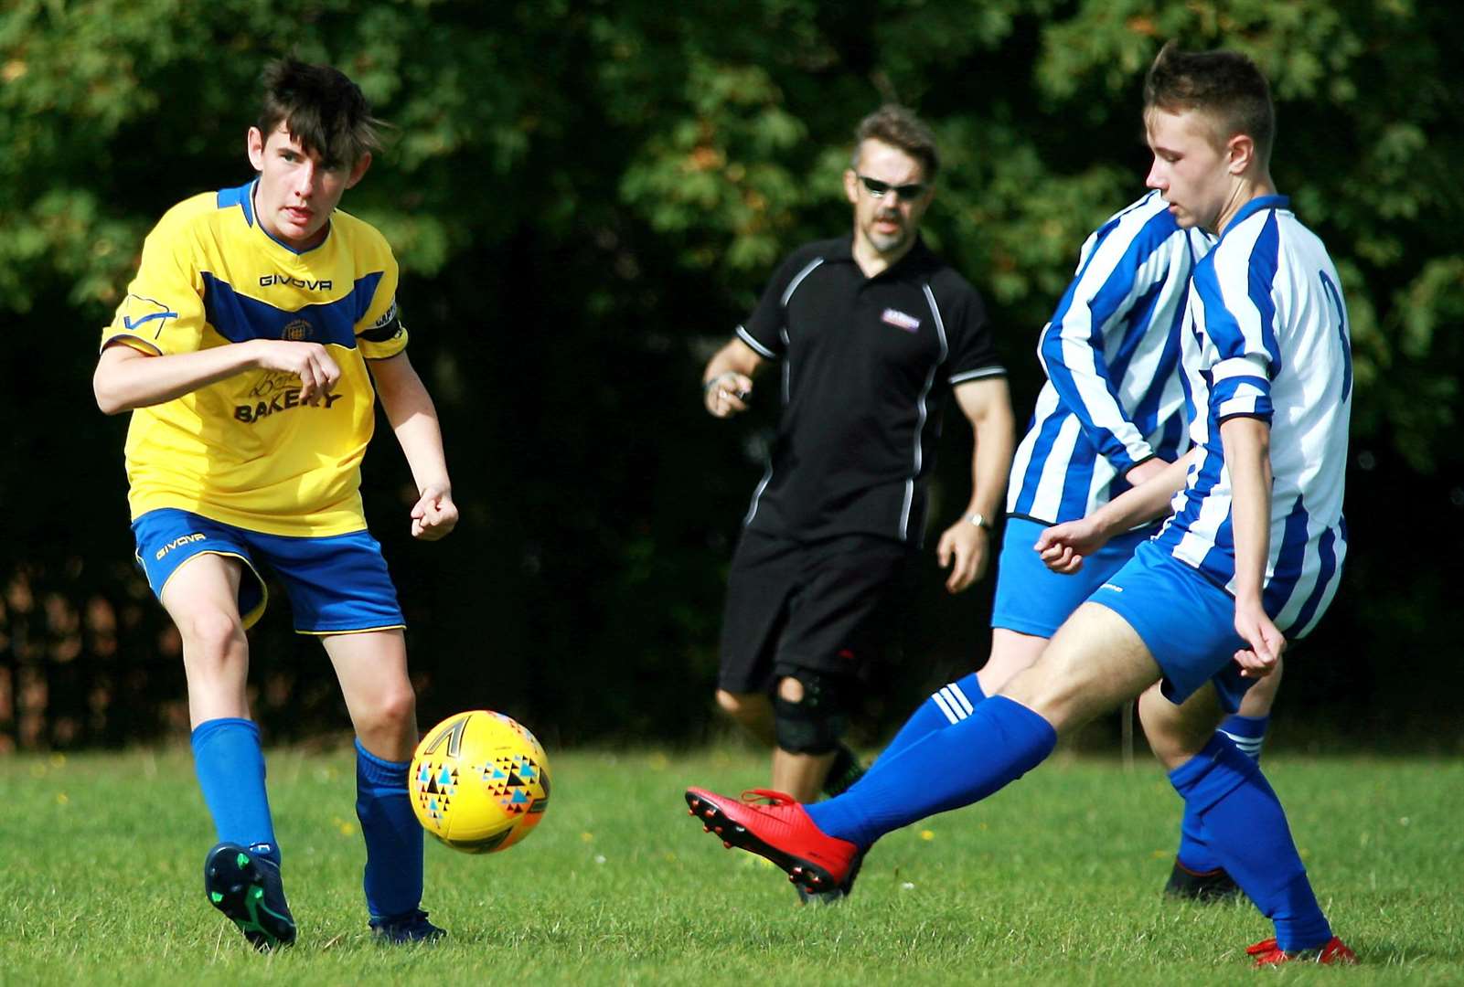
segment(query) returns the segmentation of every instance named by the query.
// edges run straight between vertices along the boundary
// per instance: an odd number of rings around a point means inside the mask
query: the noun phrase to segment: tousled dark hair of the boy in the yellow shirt
[[[261,82],[259,133],[265,140],[284,123],[306,151],[328,165],[347,167],[381,149],[378,129],[384,124],[372,116],[366,94],[341,70],[285,57],[265,66]]]

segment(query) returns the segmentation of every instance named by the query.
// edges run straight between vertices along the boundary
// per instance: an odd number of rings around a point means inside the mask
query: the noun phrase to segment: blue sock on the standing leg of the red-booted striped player
[[[1281,949],[1315,949],[1332,937],[1306,867],[1291,841],[1281,800],[1261,766],[1224,734],[1170,772],[1199,812],[1209,848],[1240,889],[1275,923]]]

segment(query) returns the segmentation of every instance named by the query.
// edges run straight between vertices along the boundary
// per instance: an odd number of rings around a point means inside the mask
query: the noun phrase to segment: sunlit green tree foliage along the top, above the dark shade
[[[26,311],[61,285],[102,317],[158,211],[242,174],[259,64],[294,50],[350,70],[397,124],[389,178],[351,205],[417,275],[526,227],[572,241],[631,222],[745,301],[839,219],[851,123],[902,99],[946,142],[933,238],[1039,325],[1075,243],[1140,187],[1138,85],[1177,38],[1271,76],[1278,181],[1345,269],[1364,434],[1429,469],[1454,424],[1436,328],[1464,304],[1464,88],[1445,61],[1460,31],[1410,0],[315,0],[284,16],[262,0],[19,0],[0,20],[0,292]]]

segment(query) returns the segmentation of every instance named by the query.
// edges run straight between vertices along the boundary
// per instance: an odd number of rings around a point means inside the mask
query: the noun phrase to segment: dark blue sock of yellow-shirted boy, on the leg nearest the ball
[[[382,760],[356,741],[356,817],[366,838],[366,907],[397,918],[422,904],[422,823],[407,794],[410,762]]]

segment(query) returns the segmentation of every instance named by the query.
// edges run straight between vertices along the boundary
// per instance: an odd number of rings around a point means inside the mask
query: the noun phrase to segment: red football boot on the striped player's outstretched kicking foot
[[[780,791],[754,788],[733,801],[706,788],[688,788],[687,804],[703,829],[716,833],[725,847],[767,857],[805,890],[848,892],[854,883],[859,848],[818,829],[804,807]]]

